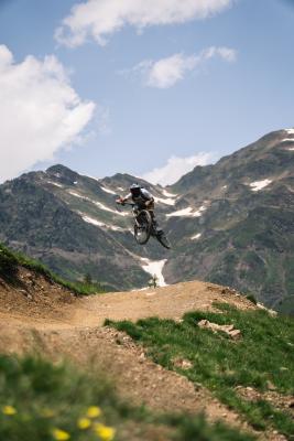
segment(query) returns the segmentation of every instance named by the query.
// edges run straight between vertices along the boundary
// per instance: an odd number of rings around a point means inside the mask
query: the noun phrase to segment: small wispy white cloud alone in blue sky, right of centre
[[[122,74],[140,74],[143,77],[145,86],[166,89],[182,80],[188,72],[200,67],[207,60],[214,57],[220,57],[226,62],[233,62],[236,61],[237,52],[230,47],[211,46],[197,55],[186,56],[179,53],[156,62],[145,60],[131,69],[122,71]]]

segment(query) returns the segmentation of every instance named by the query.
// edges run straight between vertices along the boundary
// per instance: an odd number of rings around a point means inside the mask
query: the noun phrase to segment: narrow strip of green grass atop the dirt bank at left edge
[[[0,277],[9,283],[18,283],[18,268],[22,266],[39,275],[44,276],[47,280],[62,284],[63,287],[74,291],[77,294],[92,294],[105,292],[99,283],[69,282],[63,280],[41,262],[29,258],[20,252],[14,252],[0,244]]]

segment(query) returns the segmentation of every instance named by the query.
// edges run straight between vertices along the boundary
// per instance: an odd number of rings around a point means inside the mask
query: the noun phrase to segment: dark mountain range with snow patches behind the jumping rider
[[[139,246],[132,217],[115,200],[148,187],[173,249]],[[294,312],[294,129],[196,166],[163,187],[129,174],[95,179],[64,165],[0,185],[0,241],[69,280],[86,273],[106,289],[200,279]]]

